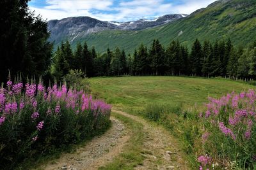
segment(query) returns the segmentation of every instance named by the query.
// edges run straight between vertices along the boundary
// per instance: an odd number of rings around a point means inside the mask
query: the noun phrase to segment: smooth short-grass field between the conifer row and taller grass
[[[255,89],[230,80],[170,76],[92,78],[90,83],[97,96],[128,113],[154,104],[203,108],[209,96],[221,97],[233,90]]]

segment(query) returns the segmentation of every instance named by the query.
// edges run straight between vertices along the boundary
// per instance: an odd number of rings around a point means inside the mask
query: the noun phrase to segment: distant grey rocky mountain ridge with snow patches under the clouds
[[[91,17],[70,17],[62,20],[50,20],[48,30],[51,31],[50,41],[57,45],[65,39],[76,41],[86,38],[89,34],[105,30],[142,30],[157,25],[168,24],[188,15],[170,14],[154,20],[140,19],[131,22],[104,22]]]

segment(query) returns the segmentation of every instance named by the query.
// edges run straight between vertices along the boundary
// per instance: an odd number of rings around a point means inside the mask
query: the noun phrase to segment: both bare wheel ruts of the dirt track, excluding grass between
[[[145,141],[141,154],[145,157],[142,165],[134,169],[189,169],[188,163],[184,161],[177,141],[166,129],[152,125],[143,118],[129,115],[122,111],[113,112],[131,118],[143,125]],[[113,125],[106,134],[93,139],[86,146],[77,149],[75,153],[63,154],[60,159],[52,164],[40,167],[40,169],[98,169],[111,162],[125,148],[129,142],[131,133],[120,120],[111,117]]]

